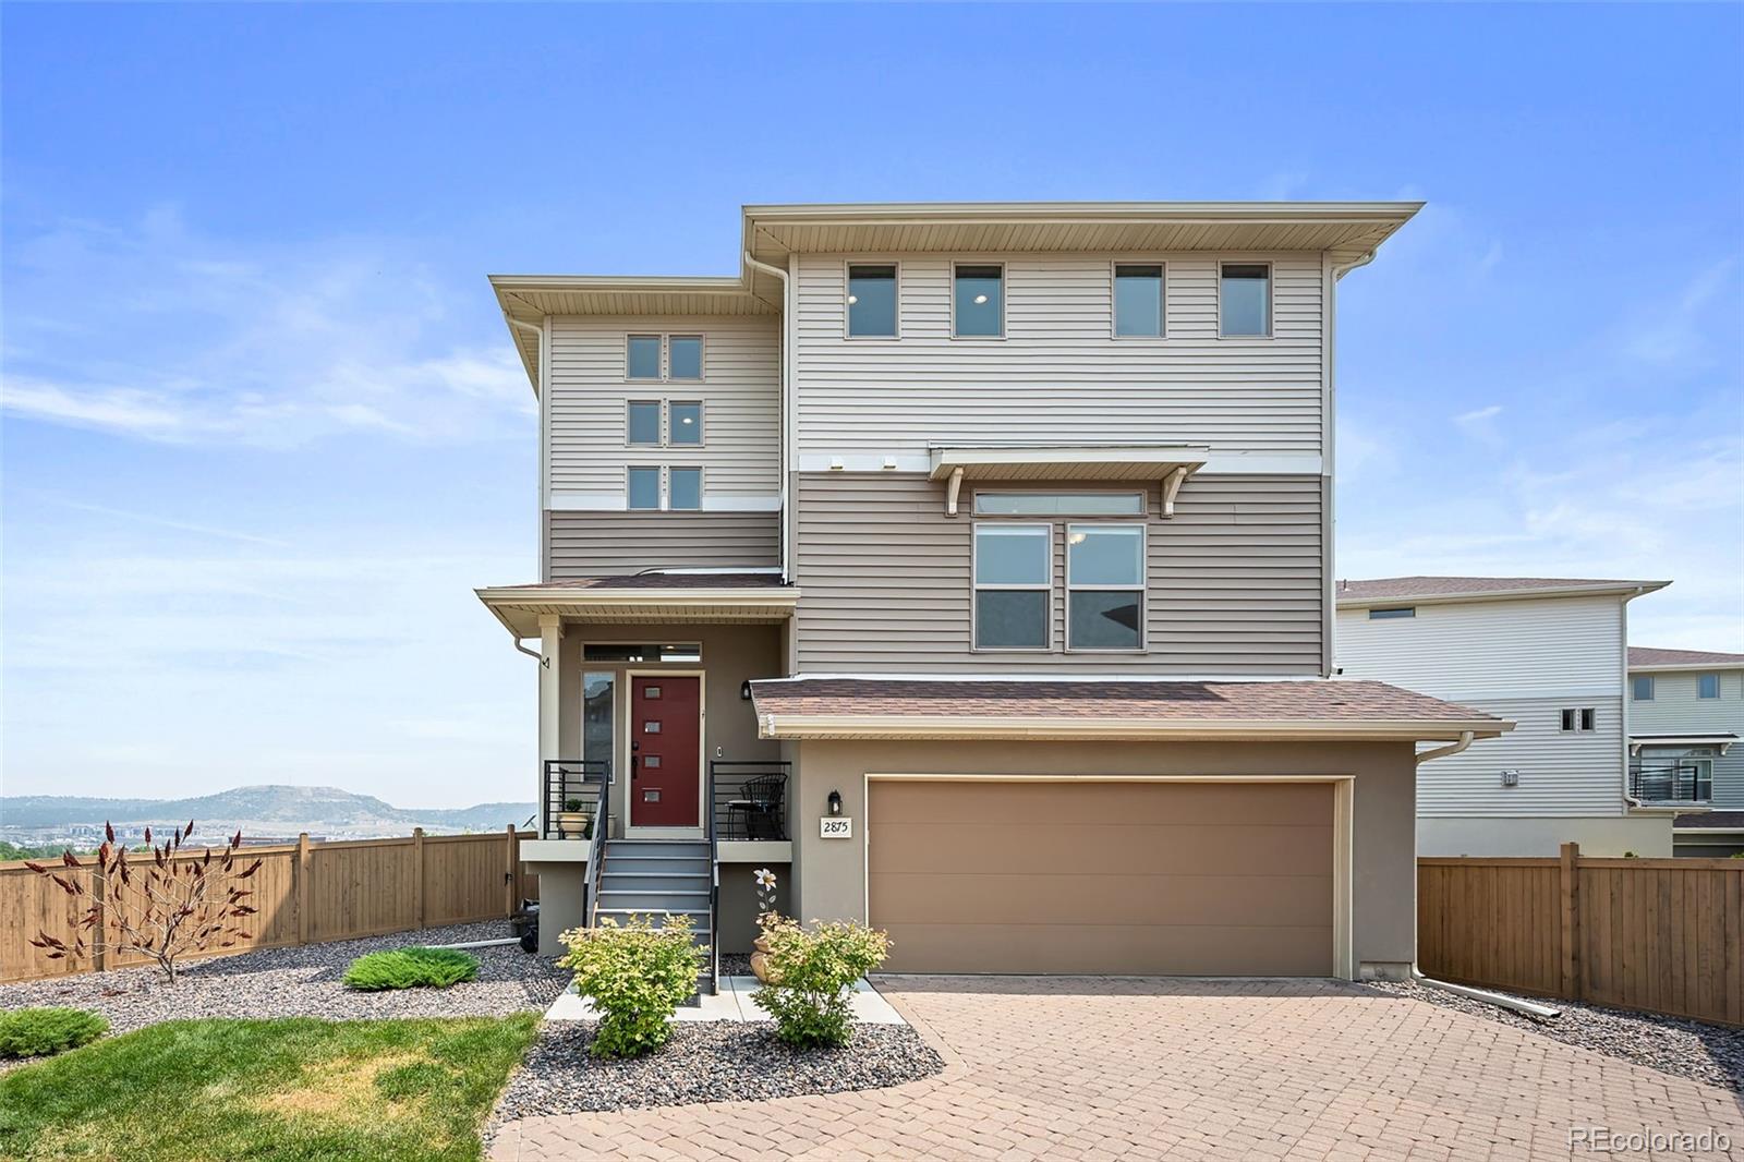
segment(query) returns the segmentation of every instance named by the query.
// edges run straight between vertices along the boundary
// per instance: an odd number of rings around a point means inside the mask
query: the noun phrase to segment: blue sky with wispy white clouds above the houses
[[[485,274],[738,206],[1427,199],[1339,291],[1339,574],[1744,651],[1744,9],[5,5],[9,794],[525,796]]]

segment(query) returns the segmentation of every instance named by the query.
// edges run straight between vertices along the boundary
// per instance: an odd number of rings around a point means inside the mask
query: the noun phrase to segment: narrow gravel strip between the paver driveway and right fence
[[[1540,1021],[1538,1017],[1528,1017],[1526,1014],[1470,1000],[1468,996],[1432,989],[1414,981],[1373,981],[1362,988],[1409,996],[1430,1005],[1441,1005],[1442,1008],[1456,1008],[1489,1021],[1500,1021],[1502,1024],[1531,1029],[1540,1036],[1549,1036],[1564,1045],[1578,1045],[1659,1070],[1660,1073],[1671,1073],[1672,1077],[1685,1077],[1693,1082],[1744,1092],[1744,1029],[1707,1024],[1706,1021],[1686,1021],[1683,1017],[1660,1017],[1645,1012],[1582,1005],[1578,1001],[1545,1000],[1542,996],[1516,998],[1563,1010],[1561,1017]],[[1509,993],[1503,993],[1503,996],[1509,996]]]

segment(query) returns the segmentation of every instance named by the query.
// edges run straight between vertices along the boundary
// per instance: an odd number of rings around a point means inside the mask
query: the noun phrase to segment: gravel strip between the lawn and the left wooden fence
[[[0,1008],[72,1005],[110,1021],[112,1033],[181,1017],[502,1017],[544,1010],[569,984],[555,961],[520,947],[467,949],[478,981],[446,989],[359,993],[345,988],[345,965],[364,953],[412,944],[457,944],[514,935],[509,923],[448,925],[364,940],[333,940],[195,961],[169,984],[155,967],[87,972],[0,986]]]

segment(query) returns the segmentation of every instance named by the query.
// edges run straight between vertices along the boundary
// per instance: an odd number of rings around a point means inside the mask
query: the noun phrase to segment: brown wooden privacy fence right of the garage
[[[1744,860],[1420,858],[1418,967],[1744,1024]]]

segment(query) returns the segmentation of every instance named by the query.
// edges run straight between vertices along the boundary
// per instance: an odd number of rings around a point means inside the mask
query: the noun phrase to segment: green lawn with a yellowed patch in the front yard
[[[3,1159],[478,1159],[539,1017],[169,1021],[0,1075]]]

